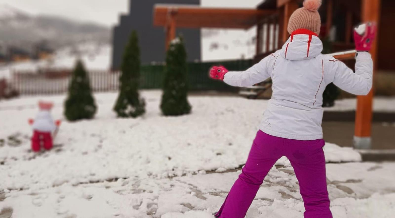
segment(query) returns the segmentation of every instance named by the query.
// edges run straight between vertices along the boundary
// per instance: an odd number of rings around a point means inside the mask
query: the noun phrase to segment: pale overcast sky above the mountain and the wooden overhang
[[[135,0],[144,1],[144,0]],[[201,0],[202,6],[254,8],[263,0]],[[33,15],[50,14],[105,25],[118,23],[128,12],[129,0],[0,0]]]

